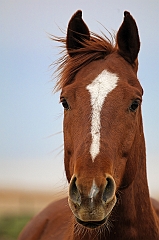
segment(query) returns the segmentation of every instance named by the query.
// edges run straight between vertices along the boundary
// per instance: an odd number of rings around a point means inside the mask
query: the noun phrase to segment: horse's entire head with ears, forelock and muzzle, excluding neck
[[[68,24],[66,48],[58,87],[68,202],[78,223],[95,228],[108,221],[120,189],[133,183],[144,149],[138,29],[124,12],[113,46],[91,34],[77,11]]]

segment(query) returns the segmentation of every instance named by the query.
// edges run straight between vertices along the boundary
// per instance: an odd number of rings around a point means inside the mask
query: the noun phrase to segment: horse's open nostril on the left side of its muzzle
[[[72,178],[70,187],[69,187],[69,197],[75,204],[81,204],[81,195],[76,186],[76,177]]]

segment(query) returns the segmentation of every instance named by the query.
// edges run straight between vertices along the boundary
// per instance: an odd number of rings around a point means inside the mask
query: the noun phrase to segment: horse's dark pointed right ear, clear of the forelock
[[[140,50],[140,39],[135,20],[129,12],[124,12],[124,21],[117,33],[117,46],[119,54],[126,61],[133,64],[137,60]]]

